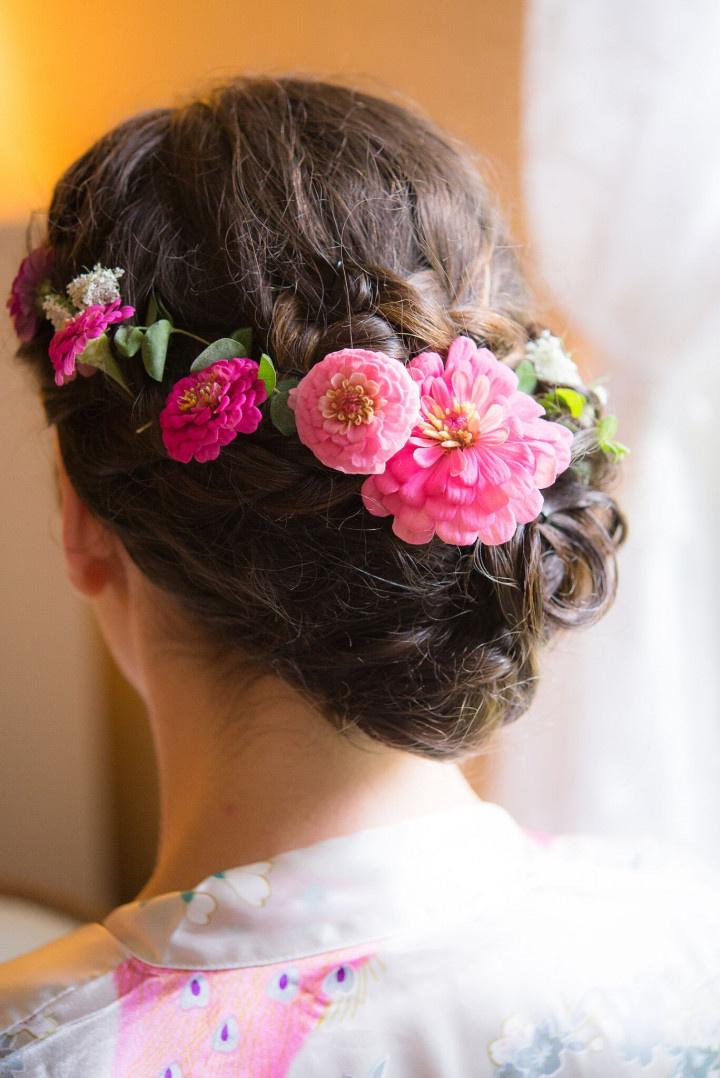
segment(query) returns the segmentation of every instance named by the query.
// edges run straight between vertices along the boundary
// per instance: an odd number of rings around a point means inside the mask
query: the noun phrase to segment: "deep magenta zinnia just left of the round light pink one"
[[[160,414],[163,442],[174,460],[214,460],[237,434],[258,429],[267,397],[252,359],[220,359],[172,386]]]

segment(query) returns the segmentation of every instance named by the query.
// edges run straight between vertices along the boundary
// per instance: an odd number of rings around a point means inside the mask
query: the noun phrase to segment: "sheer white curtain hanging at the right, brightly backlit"
[[[531,250],[609,375],[631,536],[491,793],[720,858],[720,4],[529,0],[525,44]]]

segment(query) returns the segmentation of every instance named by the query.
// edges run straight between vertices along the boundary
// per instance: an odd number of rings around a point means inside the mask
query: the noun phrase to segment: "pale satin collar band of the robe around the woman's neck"
[[[517,881],[530,840],[502,807],[460,806],[218,871],[115,909],[130,954],[177,969],[286,962],[482,917]]]

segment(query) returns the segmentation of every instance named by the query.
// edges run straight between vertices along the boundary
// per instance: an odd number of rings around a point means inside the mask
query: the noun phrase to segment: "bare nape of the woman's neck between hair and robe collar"
[[[350,741],[273,676],[232,705],[188,657],[153,649],[143,681],[160,766],[161,838],[138,898],[479,800],[457,764],[390,749],[357,731]]]

